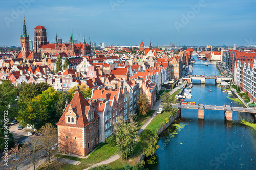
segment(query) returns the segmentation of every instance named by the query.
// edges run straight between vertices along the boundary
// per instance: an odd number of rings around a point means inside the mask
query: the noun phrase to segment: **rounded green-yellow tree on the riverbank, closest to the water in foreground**
[[[141,139],[141,148],[143,155],[145,156],[152,156],[155,154],[156,150],[158,149],[159,145],[158,142],[158,135],[154,133],[152,130],[145,129],[140,134]]]

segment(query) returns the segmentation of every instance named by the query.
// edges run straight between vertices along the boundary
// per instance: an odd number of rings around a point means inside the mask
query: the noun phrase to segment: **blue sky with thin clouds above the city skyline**
[[[256,45],[255,0],[37,1],[9,0],[0,5],[0,45],[20,45],[25,16],[27,33],[47,29],[47,40],[70,38],[107,45],[233,46]]]

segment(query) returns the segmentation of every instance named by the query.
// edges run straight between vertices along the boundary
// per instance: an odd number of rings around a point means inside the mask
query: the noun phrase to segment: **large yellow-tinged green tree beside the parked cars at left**
[[[45,125],[48,119],[48,110],[47,106],[42,102],[41,96],[36,96],[27,104],[22,105],[17,119],[19,124],[24,127],[29,124],[39,129],[42,125]]]

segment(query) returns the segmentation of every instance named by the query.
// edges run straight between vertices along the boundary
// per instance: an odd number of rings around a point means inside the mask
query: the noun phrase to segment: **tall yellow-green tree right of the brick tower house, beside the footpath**
[[[135,138],[137,137],[137,123],[130,116],[127,121],[123,117],[117,118],[114,133],[116,134],[117,153],[124,160],[130,158],[133,154],[135,146]]]

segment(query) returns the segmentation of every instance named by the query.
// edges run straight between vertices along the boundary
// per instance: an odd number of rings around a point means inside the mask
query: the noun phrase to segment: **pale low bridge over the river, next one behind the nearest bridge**
[[[233,78],[228,76],[204,76],[204,75],[188,75],[183,78],[188,83],[192,83],[193,80],[200,80],[201,83],[205,83],[205,79],[215,79],[216,83],[221,83],[222,81],[231,81]]]

